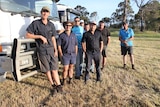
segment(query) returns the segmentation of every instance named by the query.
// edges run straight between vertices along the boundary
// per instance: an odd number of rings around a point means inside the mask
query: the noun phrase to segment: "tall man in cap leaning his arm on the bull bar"
[[[37,54],[40,68],[45,72],[54,91],[62,92],[62,86],[58,75],[58,53],[56,46],[56,30],[54,24],[48,20],[50,9],[41,9],[41,19],[33,21],[27,28],[26,38],[36,40]]]

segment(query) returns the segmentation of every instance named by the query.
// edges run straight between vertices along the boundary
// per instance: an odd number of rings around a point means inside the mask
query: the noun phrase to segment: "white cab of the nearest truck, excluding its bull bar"
[[[55,0],[0,0],[0,55],[10,55],[14,38],[24,38],[28,25],[48,6],[56,30],[62,28]]]

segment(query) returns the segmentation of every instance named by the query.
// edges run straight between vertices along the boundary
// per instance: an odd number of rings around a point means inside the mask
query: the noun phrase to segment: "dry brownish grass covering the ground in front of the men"
[[[136,70],[122,69],[118,38],[112,37],[108,47],[108,63],[101,83],[91,73],[87,84],[73,80],[65,85],[63,94],[51,93],[43,73],[21,82],[0,83],[0,107],[160,107],[160,38],[135,38]]]

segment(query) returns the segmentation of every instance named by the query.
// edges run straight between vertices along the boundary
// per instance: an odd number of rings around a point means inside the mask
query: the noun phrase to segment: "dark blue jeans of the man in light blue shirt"
[[[81,76],[82,61],[83,61],[83,50],[82,50],[82,48],[78,48],[78,53],[77,53],[77,57],[76,57],[76,65],[75,65],[75,70],[76,70],[75,76],[76,77]]]

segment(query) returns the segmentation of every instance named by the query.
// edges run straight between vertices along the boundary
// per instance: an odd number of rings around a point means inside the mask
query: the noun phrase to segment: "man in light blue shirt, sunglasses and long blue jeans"
[[[80,26],[80,18],[75,17],[74,18],[75,25],[72,28],[72,32],[76,35],[77,40],[78,40],[78,53],[77,53],[77,58],[76,58],[76,66],[75,66],[75,79],[80,79],[80,76],[82,75],[81,70],[82,67],[80,66],[83,60],[83,51],[82,51],[82,36],[84,33],[84,28]]]

